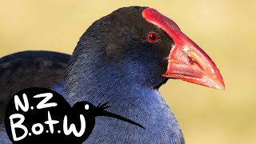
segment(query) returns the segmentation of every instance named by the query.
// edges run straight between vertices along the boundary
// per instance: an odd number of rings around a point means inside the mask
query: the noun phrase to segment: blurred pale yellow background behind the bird
[[[71,54],[92,22],[123,6],[150,6],[173,19],[221,70],[225,91],[179,80],[160,90],[186,143],[255,143],[255,0],[0,0],[0,57],[22,50]]]

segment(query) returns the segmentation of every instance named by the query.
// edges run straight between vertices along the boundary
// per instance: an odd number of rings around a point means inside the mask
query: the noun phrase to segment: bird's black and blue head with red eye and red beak
[[[218,67],[206,52],[174,21],[147,7],[121,8],[94,22],[74,50],[74,65],[75,70],[85,69],[86,77],[122,77],[147,87],[158,88],[167,79],[178,78],[225,89]]]

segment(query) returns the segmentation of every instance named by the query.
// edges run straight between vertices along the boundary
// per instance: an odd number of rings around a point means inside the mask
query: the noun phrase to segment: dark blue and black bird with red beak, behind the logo
[[[24,60],[17,60],[20,57]],[[17,89],[40,85],[62,94],[70,106],[79,101],[94,106],[109,102],[108,111],[145,128],[99,117],[84,143],[184,144],[182,130],[159,87],[169,79],[180,79],[225,89],[208,54],[173,20],[142,6],[122,7],[95,21],[71,56],[25,51],[1,58],[0,78],[1,113],[3,103]],[[3,126],[0,138],[6,138]]]

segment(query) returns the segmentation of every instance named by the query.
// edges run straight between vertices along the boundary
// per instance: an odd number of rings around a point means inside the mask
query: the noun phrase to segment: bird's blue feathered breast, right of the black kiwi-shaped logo
[[[144,126],[134,126],[115,118],[97,117],[94,130],[86,143],[174,143],[184,142],[174,114],[158,91],[143,91],[137,97],[109,98],[108,111]],[[117,96],[116,96],[117,97]],[[102,98],[88,97],[98,103]],[[113,98],[113,99],[111,99]],[[95,101],[98,102],[95,102]],[[112,100],[112,101],[111,101]],[[105,100],[104,100],[105,101]]]

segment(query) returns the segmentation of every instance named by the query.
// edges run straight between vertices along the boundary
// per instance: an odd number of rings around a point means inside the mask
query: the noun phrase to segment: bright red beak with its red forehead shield
[[[206,52],[182,33],[174,21],[151,8],[143,10],[142,16],[147,22],[165,30],[174,39],[166,74],[163,76],[215,89],[225,89],[218,67]]]

